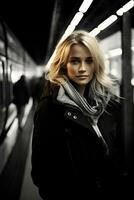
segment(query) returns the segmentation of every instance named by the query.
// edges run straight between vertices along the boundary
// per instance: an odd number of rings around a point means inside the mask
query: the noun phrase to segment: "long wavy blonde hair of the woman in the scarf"
[[[85,46],[92,55],[94,62],[94,76],[91,80],[90,86],[92,92],[96,97],[105,98],[108,93],[115,96],[115,83],[105,73],[104,56],[100,49],[97,38],[92,37],[87,31],[76,30],[72,32],[64,40],[60,41],[49,61],[49,71],[47,78],[50,82],[61,84],[61,81],[67,80],[66,65],[72,45],[81,44]]]

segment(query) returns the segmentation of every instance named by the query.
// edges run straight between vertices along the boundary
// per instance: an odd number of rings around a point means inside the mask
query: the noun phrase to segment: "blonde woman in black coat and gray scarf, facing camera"
[[[115,194],[123,166],[121,105],[98,41],[74,31],[57,45],[47,79],[32,141],[31,174],[41,197]]]

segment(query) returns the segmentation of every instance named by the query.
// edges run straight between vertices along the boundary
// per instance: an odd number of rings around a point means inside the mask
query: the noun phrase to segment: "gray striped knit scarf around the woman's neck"
[[[109,99],[110,98],[108,98],[107,103]],[[101,114],[104,112],[105,106],[107,105],[107,103],[105,101],[102,103],[98,103],[96,101],[96,105],[91,106],[88,103],[88,101],[79,94],[79,92],[70,83],[70,81],[65,81],[63,84],[61,84],[61,87],[59,89],[59,93],[57,96],[57,100],[65,104],[76,106],[82,111],[82,113],[85,116],[89,117],[91,121],[91,126],[93,127],[97,137],[101,140],[103,146],[106,149],[106,153],[108,154],[109,153],[108,146],[97,126],[98,119],[101,116]]]

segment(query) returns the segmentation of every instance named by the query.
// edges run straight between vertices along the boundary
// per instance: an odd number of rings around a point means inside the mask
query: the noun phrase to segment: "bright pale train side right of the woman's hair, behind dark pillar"
[[[131,54],[132,54],[132,78],[131,85],[134,88],[134,29],[131,30]],[[106,71],[113,78],[118,80],[117,93],[120,94],[120,87],[122,83],[122,44],[121,44],[121,31],[106,37],[100,41],[105,58],[106,58]],[[116,42],[115,42],[116,41]],[[133,92],[134,102],[134,92]]]

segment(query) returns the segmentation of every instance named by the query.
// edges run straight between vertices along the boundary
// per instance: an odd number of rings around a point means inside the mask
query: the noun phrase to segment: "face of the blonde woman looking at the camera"
[[[67,62],[67,76],[77,85],[86,85],[93,77],[94,63],[89,50],[83,45],[71,47]]]

